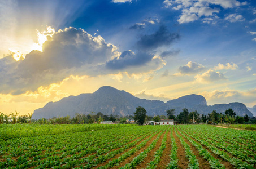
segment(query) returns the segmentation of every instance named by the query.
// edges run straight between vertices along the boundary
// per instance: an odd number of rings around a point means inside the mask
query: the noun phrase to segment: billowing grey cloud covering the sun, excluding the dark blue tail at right
[[[32,51],[24,60],[11,56],[0,59],[0,92],[18,95],[36,91],[40,86],[57,83],[81,66],[103,64],[115,57],[116,47],[102,37],[92,37],[83,29],[66,28],[43,45],[43,52]]]

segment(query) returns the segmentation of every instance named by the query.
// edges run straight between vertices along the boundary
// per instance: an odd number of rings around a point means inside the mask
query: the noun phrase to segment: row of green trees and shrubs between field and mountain
[[[69,115],[65,117],[53,117],[50,119],[41,118],[38,120],[31,119],[32,113],[28,115],[20,115],[17,111],[15,113],[4,114],[0,112],[0,124],[15,124],[15,123],[37,123],[37,124],[92,124],[101,123],[102,121],[112,121],[118,123],[129,123],[127,119],[134,119],[138,124],[144,124],[146,121],[159,122],[161,119],[173,119],[179,124],[192,124],[192,123],[207,123],[207,124],[243,124],[243,123],[256,123],[256,118],[249,118],[246,114],[245,117],[236,116],[236,112],[232,109],[225,110],[224,114],[217,113],[213,110],[207,115],[200,115],[197,110],[189,112],[188,109],[183,109],[180,114],[175,115],[175,109],[166,110],[166,114],[156,115],[151,117],[146,115],[146,109],[138,106],[136,112],[133,115],[127,115],[125,117],[119,117],[118,115],[104,115],[101,112],[97,114],[95,112],[90,112],[88,115],[77,113],[75,117],[70,117]],[[194,118],[193,118],[194,116]],[[194,119],[194,122],[193,122]]]

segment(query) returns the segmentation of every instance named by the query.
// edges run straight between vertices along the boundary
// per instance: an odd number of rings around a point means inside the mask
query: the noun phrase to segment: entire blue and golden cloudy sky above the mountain
[[[253,0],[0,2],[0,112],[101,86],[256,105]]]

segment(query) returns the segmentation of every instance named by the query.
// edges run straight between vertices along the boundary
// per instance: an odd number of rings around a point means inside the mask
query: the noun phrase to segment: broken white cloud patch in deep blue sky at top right
[[[247,3],[239,2],[236,0],[166,0],[163,2],[164,7],[171,8],[173,10],[181,10],[182,14],[177,20],[180,24],[189,23],[195,20],[198,20],[202,17],[214,18],[216,14],[220,12],[220,8],[234,8],[242,5],[247,5]],[[212,8],[212,6],[216,6]],[[235,17],[235,16],[233,16]],[[238,15],[235,17],[236,20],[242,20],[241,16]],[[210,23],[211,20],[202,19],[204,23]],[[234,20],[234,19],[232,19]]]

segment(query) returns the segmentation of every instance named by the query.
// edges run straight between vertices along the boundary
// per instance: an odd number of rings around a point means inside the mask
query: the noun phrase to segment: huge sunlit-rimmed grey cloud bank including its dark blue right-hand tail
[[[165,63],[151,52],[124,51],[122,54],[101,36],[83,29],[66,28],[48,37],[41,51],[32,51],[16,61],[13,54],[0,59],[0,93],[20,95],[39,87],[60,83],[70,75],[147,73]],[[115,77],[121,80],[120,76]]]

